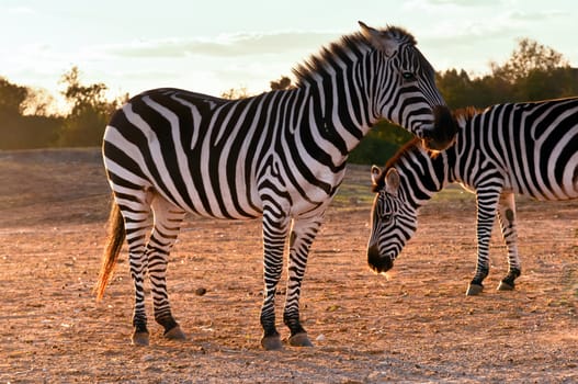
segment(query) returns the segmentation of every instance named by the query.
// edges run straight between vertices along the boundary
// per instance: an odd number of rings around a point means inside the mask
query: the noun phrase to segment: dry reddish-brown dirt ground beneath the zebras
[[[486,290],[466,297],[473,196],[431,201],[394,271],[377,275],[365,258],[369,167],[348,172],[303,286],[315,348],[260,348],[260,222],[193,217],[168,280],[188,340],[150,324],[151,345],[136,348],[126,252],[104,300],[91,293],[109,204],[98,150],[0,153],[0,382],[578,382],[578,201],[519,199],[517,290],[496,291],[507,263],[495,227]]]

